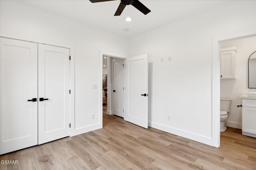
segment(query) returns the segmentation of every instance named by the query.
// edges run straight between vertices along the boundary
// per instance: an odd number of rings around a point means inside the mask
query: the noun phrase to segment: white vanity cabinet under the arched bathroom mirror
[[[256,100],[242,100],[242,134],[256,137]]]

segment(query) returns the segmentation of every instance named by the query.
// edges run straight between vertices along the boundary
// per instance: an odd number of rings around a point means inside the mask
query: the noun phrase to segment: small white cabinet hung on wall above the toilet
[[[220,78],[236,78],[236,47],[220,49]]]

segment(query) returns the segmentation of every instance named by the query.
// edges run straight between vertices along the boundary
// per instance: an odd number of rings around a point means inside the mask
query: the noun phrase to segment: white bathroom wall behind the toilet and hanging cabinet
[[[220,98],[232,99],[226,126],[242,129],[242,104],[240,96],[253,89],[248,88],[248,59],[256,51],[256,37],[224,41],[220,48],[236,47],[236,79],[220,79]],[[255,91],[255,89],[254,89]]]

